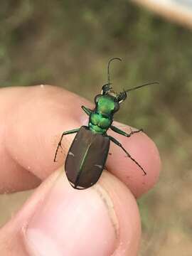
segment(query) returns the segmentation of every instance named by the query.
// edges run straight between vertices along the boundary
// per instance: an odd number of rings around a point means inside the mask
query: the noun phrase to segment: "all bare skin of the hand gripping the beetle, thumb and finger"
[[[0,102],[0,191],[38,187],[1,228],[0,255],[137,255],[141,227],[135,198],[154,186],[161,167],[154,142],[143,132],[131,138],[109,132],[147,175],[111,143],[107,171],[95,186],[77,191],[63,171],[75,135],[63,138],[56,163],[53,157],[63,131],[87,124],[81,105],[93,105],[49,85],[1,89]]]

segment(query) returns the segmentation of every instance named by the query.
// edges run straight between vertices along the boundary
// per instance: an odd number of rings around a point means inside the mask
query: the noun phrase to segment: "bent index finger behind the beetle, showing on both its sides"
[[[4,166],[9,171],[7,171],[6,177],[1,179],[1,183],[4,183],[3,187],[1,185],[1,191],[10,189],[10,187],[12,190],[18,189],[18,187],[22,189],[23,179],[21,178],[20,181],[18,178],[15,179],[16,171],[12,168],[11,163],[13,165],[16,162],[17,166],[21,166],[21,171],[27,170],[27,173],[30,172],[41,180],[63,164],[75,135],[63,137],[63,152],[58,151],[58,162],[54,163],[53,158],[60,135],[63,131],[87,124],[87,115],[82,112],[80,106],[91,107],[89,102],[58,87],[22,87],[17,88],[18,91],[16,100],[12,103],[16,107],[9,110],[11,114],[4,111],[7,116],[5,154],[9,159],[9,161],[4,161]],[[6,93],[6,96],[13,98],[14,92],[11,90],[10,93]],[[136,196],[139,196],[154,185],[159,175],[160,161],[156,146],[144,133],[134,134],[130,138],[120,137],[119,134],[115,134],[115,137],[122,142],[129,154],[146,169],[147,175],[142,176],[138,166],[124,157],[124,152],[112,144],[112,156],[108,157],[107,167],[115,176],[129,185]],[[118,168],[119,164],[120,169]],[[11,186],[10,176],[14,177]],[[39,179],[36,183],[39,182]],[[26,186],[31,187],[28,180],[24,183],[24,188]]]

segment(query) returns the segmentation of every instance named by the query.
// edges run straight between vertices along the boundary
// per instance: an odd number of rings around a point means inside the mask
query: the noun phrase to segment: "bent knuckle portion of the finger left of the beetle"
[[[34,86],[1,89],[0,100],[0,193],[34,188],[57,168],[53,156],[63,121],[64,127],[79,126],[73,118],[80,118],[81,110],[75,110],[80,97],[58,87]],[[70,111],[73,118],[66,122]]]

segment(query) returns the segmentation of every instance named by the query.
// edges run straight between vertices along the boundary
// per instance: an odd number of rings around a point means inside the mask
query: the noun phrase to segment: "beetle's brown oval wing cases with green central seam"
[[[65,173],[74,188],[94,185],[104,169],[110,149],[110,139],[81,127],[65,160]]]

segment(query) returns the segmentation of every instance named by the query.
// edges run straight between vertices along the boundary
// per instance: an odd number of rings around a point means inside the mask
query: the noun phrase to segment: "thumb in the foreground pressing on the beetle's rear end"
[[[137,255],[140,222],[128,188],[105,172],[92,188],[54,173],[0,231],[0,255]]]

